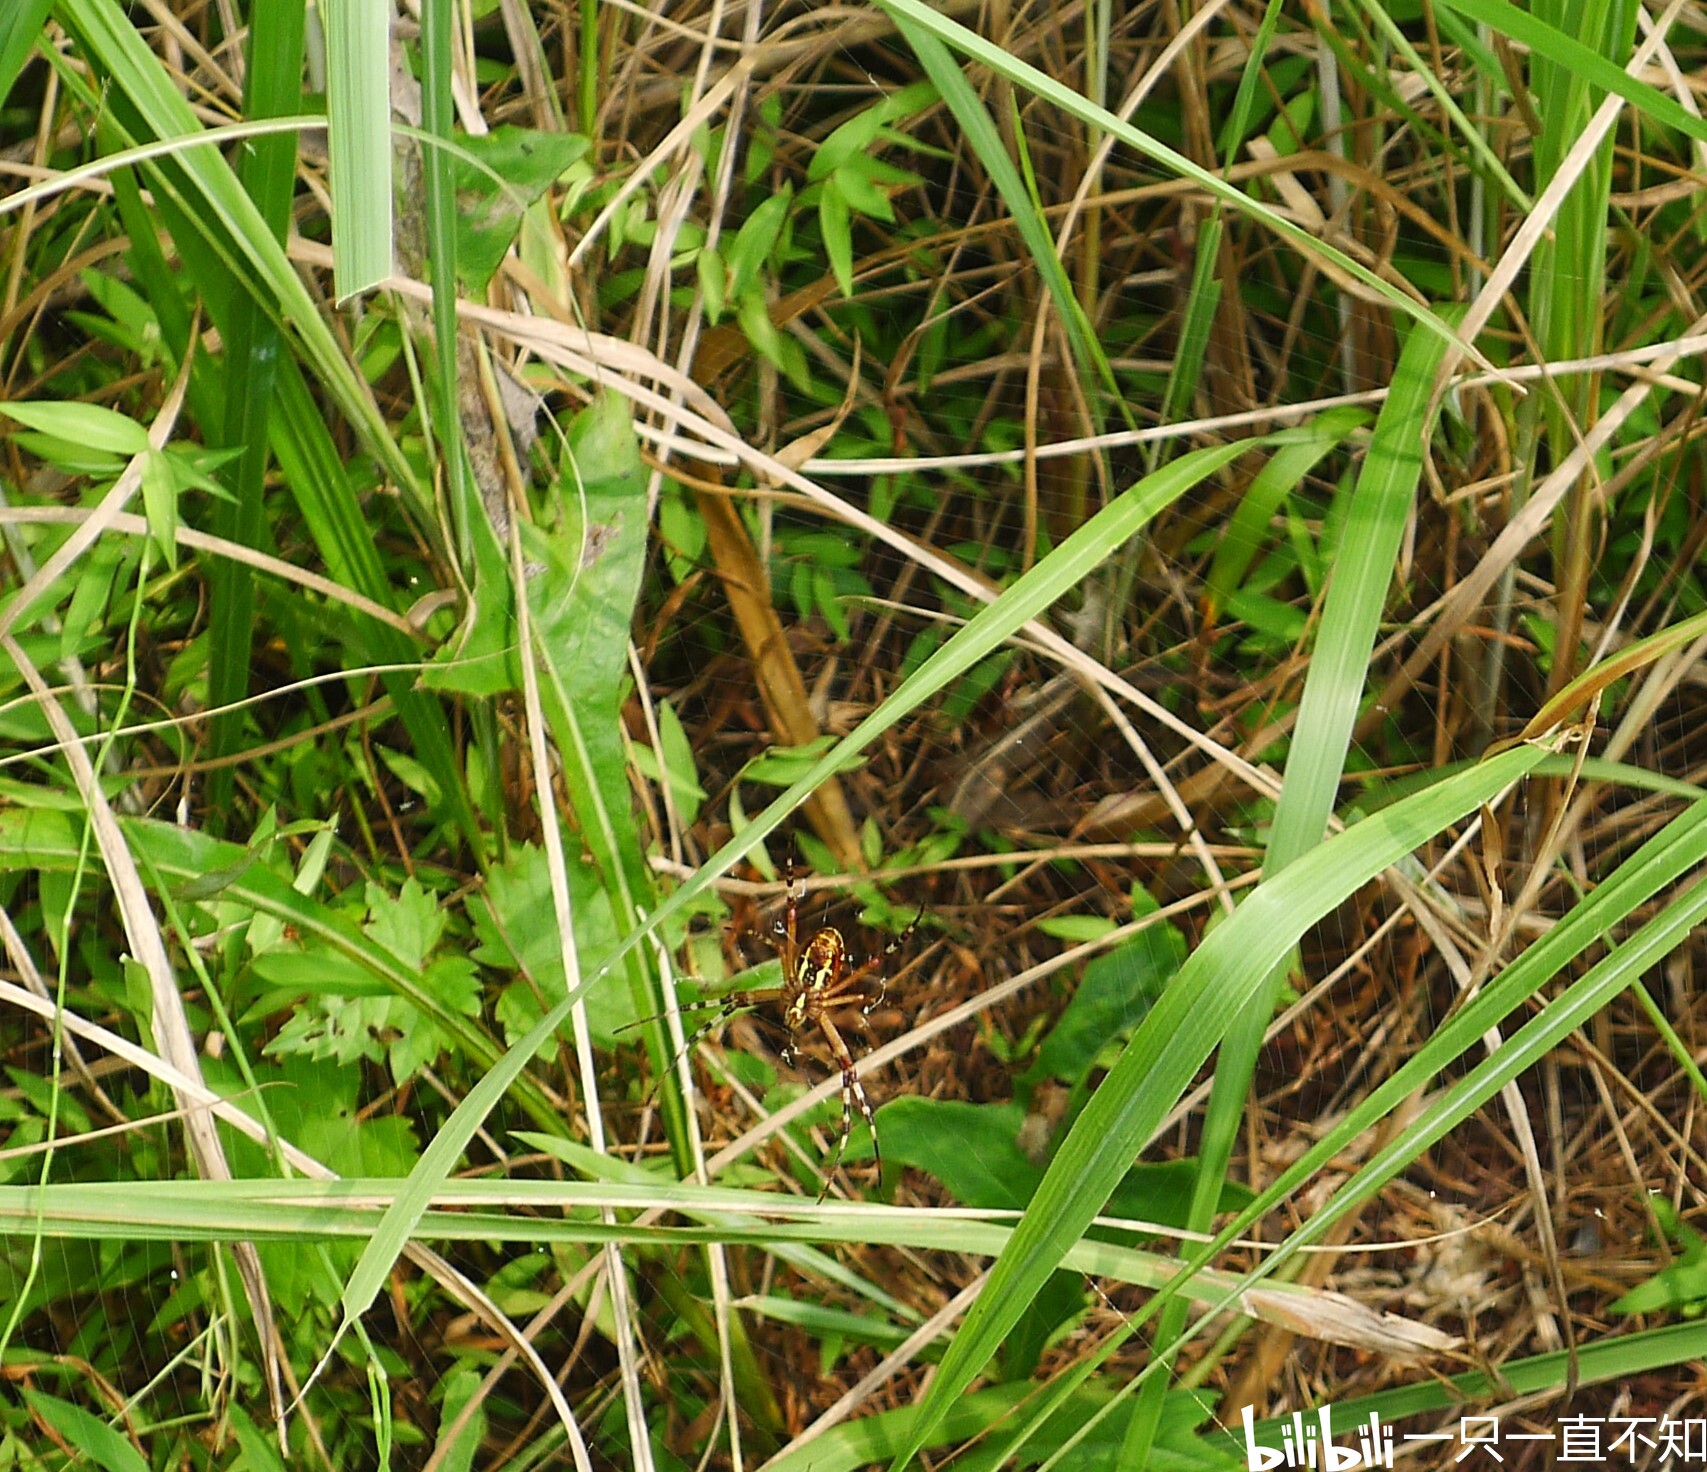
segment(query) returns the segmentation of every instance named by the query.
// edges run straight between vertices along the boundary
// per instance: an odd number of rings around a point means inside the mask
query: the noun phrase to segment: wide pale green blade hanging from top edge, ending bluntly
[[[391,7],[319,0],[326,32],[331,278],[340,302],[391,275]]]

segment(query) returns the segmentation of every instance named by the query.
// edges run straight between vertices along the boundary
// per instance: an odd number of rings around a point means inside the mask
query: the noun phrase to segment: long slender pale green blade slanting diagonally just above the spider
[[[1159,511],[1171,505],[1205,476],[1246,454],[1261,441],[1243,441],[1229,446],[1210,446],[1180,456],[1154,475],[1140,480],[1132,490],[1111,500],[1103,511],[1081,526],[1048,557],[1022,574],[1012,587],[973,615],[966,625],[935,649],[923,664],[896,686],[894,693],[867,716],[854,731],[843,736],[830,751],[814,762],[807,772],[778,796],[763,813],[736,833],[722,849],[707,859],[698,871],[676,890],[650,917],[645,931],[623,939],[604,967],[586,977],[563,1001],[553,1006],[498,1062],[480,1079],[469,1095],[444,1122],[432,1144],[410,1173],[405,1190],[386,1211],[372,1241],[364,1250],[355,1272],[343,1293],[345,1318],[353,1320],[367,1311],[396,1262],[398,1253],[415,1230],[427,1202],[439,1183],[454,1170],[468,1141],[480,1129],[492,1107],[502,1098],[510,1081],[522,1071],[539,1047],[563,1025],[574,1004],[611,975],[640,941],[681,915],[686,907],[731,866],[746,857],[831,774],[864,751],[879,736],[896,726],[903,716],[915,710],[929,697],[946,688],[959,675],[990,654],[1004,639],[1028,620],[1038,616],[1069,589],[1077,587],[1127,538],[1133,536]],[[1101,1202],[1098,1202],[1101,1206]]]

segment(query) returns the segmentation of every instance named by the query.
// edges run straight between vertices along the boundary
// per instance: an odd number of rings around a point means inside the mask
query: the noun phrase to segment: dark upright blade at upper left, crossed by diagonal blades
[[[302,0],[256,5],[249,17],[244,70],[246,118],[283,118],[302,108]],[[242,147],[237,178],[254,200],[275,241],[285,239],[295,195],[297,140],[294,133],[253,138]],[[242,546],[261,548],[263,482],[268,461],[266,420],[278,362],[278,326],[253,295],[239,294],[225,328],[224,444],[239,451],[225,473],[232,500],[213,507],[213,531]],[[208,821],[215,828],[230,808],[236,768],[217,758],[237,748],[242,716],[224,707],[249,693],[249,644],[254,616],[254,581],[236,558],[215,557],[208,579],[208,755],[215,765],[203,789]]]

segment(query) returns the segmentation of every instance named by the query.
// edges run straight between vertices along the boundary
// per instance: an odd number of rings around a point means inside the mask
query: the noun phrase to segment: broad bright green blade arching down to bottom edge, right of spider
[[[1265,879],[1231,919],[1209,932],[1062,1141],[990,1281],[944,1352],[893,1472],[912,1462],[947,1407],[995,1354],[1190,1086],[1229,1021],[1261,992],[1299,936],[1543,756],[1538,746],[1507,751],[1366,818],[1306,854],[1279,879]]]

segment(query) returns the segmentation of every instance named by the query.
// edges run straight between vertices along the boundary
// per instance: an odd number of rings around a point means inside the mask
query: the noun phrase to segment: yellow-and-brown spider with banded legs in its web
[[[691,1038],[688,1038],[681,1052],[671,1059],[671,1067],[674,1067],[676,1062],[686,1054],[693,1052],[695,1043],[720,1028],[725,1021],[729,1021],[729,1018],[772,1002],[777,1002],[782,1008],[782,1023],[789,1031],[789,1040],[782,1047],[782,1060],[789,1067],[794,1067],[794,1060],[802,1042],[807,1042],[814,1035],[823,1038],[823,1042],[830,1047],[831,1060],[838,1069],[842,1069],[842,1136],[836,1141],[835,1159],[831,1159],[830,1170],[824,1173],[824,1189],[818,1194],[818,1199],[823,1200],[830,1192],[830,1182],[835,1178],[836,1168],[842,1165],[842,1154],[854,1134],[855,1103],[859,1103],[859,1112],[865,1117],[865,1129],[871,1130],[871,1154],[876,1173],[879,1178],[883,1177],[883,1151],[877,1146],[877,1117],[865,1095],[865,1086],[859,1081],[859,1074],[854,1071],[854,1055],[848,1052],[848,1045],[842,1040],[842,1033],[830,1019],[830,1014],[859,1002],[860,1014],[871,1016],[872,1011],[883,1004],[883,999],[889,990],[889,980],[883,973],[883,963],[900,951],[908,939],[912,939],[913,932],[918,929],[920,919],[923,919],[925,907],[918,907],[918,914],[913,915],[906,929],[889,941],[879,955],[871,956],[864,965],[855,967],[848,956],[847,941],[833,926],[824,926],[823,929],[814,931],[804,944],[801,943],[801,893],[797,893],[794,886],[792,862],[789,864],[787,876],[789,888],[782,912],[784,917],[777,920],[772,932],[765,938],[782,960],[782,985],[758,987],[748,992],[731,992],[725,997],[715,997],[708,1002],[695,1002],[683,1008],[683,1011],[715,1008],[717,1014],[705,1023],[705,1026],[695,1031]],[[876,978],[877,984],[876,992],[872,992],[869,985],[872,978]],[[649,1021],[655,1021],[655,1018],[640,1019],[640,1023]],[[628,1026],[640,1026],[640,1023],[630,1023]]]

